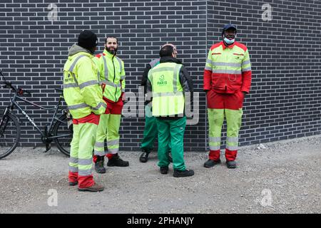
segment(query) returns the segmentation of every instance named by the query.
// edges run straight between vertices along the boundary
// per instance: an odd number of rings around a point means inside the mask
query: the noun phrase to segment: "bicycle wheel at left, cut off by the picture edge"
[[[20,139],[20,125],[11,113],[7,113],[5,116],[1,114],[0,123],[0,159],[2,159],[16,149]]]

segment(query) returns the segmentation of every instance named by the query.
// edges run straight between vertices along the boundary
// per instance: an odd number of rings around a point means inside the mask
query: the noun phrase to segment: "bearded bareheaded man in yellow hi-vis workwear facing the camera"
[[[108,157],[107,166],[126,167],[129,162],[121,160],[119,151],[119,127],[121,125],[121,110],[125,100],[125,70],[121,58],[116,56],[118,39],[108,36],[105,50],[96,56],[96,65],[100,73],[100,83],[103,89],[103,100],[107,103],[105,114],[101,115],[94,147],[93,162],[98,173],[105,173],[104,156]],[[108,153],[105,149],[107,139]]]

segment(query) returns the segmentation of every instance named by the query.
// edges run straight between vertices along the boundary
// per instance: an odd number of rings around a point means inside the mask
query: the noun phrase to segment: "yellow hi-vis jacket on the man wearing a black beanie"
[[[92,112],[105,113],[101,86],[98,84],[98,70],[93,56],[79,52],[68,56],[63,66],[63,98],[73,118],[83,118]]]

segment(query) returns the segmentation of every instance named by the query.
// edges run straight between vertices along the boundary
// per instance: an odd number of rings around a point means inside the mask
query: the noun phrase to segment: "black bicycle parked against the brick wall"
[[[0,114],[0,159],[8,156],[16,149],[16,146],[20,140],[20,124],[19,118],[12,113],[14,108],[17,108],[21,111],[22,114],[25,115],[26,119],[34,125],[34,128],[40,133],[41,141],[46,145],[46,151],[51,149],[51,142],[56,142],[58,150],[60,150],[64,155],[70,155],[70,142],[73,135],[73,125],[71,114],[68,112],[68,109],[62,109],[63,114],[56,118],[58,113],[58,109],[61,106],[61,100],[63,99],[63,90],[56,88],[55,90],[60,92],[60,98],[58,103],[54,106],[54,108],[45,108],[41,105],[37,105],[36,103],[32,103],[24,98],[21,98],[23,95],[31,95],[29,90],[24,90],[22,88],[15,88],[12,84],[6,81],[2,71],[0,70],[0,74],[4,79],[3,88],[10,89],[10,104],[4,110],[4,113]],[[14,93],[14,95],[12,95]],[[46,125],[44,131],[41,131],[38,125],[34,123],[34,120],[29,117],[29,115],[21,108],[19,103],[16,100],[24,101],[24,103],[29,103],[37,108],[41,108],[43,110],[55,110],[54,115],[52,115],[50,125]],[[54,122],[56,120],[56,122]],[[69,146],[69,147],[68,147]]]

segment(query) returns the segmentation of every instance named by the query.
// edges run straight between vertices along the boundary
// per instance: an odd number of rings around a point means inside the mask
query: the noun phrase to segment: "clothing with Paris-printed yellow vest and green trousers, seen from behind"
[[[161,58],[161,63],[148,72],[148,91],[153,92],[152,112],[156,116],[158,127],[158,166],[168,167],[169,143],[173,157],[173,169],[185,170],[183,140],[186,117],[183,116],[185,100],[183,91],[193,90],[186,83],[185,76],[180,77],[182,64],[175,58]],[[187,73],[187,72],[186,72]],[[183,86],[182,86],[183,85]],[[151,86],[151,88],[150,88]],[[170,115],[180,115],[182,117]]]

